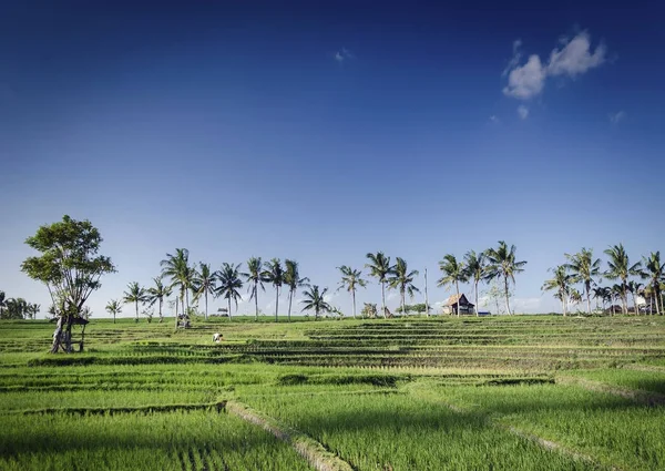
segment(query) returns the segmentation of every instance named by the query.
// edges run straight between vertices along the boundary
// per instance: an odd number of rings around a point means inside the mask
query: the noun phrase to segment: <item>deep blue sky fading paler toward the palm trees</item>
[[[0,7],[10,297],[49,304],[19,266],[63,214],[119,268],[95,317],[175,247],[295,258],[331,290],[383,250],[439,301],[444,254],[504,239],[529,262],[521,311],[557,309],[540,287],[564,253],[665,249],[657,2],[92,3]]]

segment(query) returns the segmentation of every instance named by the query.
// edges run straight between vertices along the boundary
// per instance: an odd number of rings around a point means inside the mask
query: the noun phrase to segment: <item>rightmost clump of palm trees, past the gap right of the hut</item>
[[[642,262],[631,263],[628,254],[623,244],[614,245],[604,250],[607,255],[607,269],[602,270],[602,262],[594,258],[593,250],[582,248],[576,254],[564,254],[566,262],[550,270],[553,274],[551,279],[545,280],[543,290],[554,290],[554,297],[562,304],[563,315],[569,310],[569,303],[586,298],[586,310],[591,314],[591,295],[602,300],[603,310],[605,303],[621,300],[623,314],[628,314],[628,294],[633,297],[633,309],[638,313],[636,297],[645,295],[651,299],[649,306],[653,309],[655,305],[656,314],[663,314],[662,291],[665,287],[665,264],[661,263],[661,253],[653,252],[648,257],[643,257]],[[602,277],[618,283],[611,287],[600,286]],[[643,285],[631,277],[638,277],[647,280]],[[582,285],[580,293],[575,285]],[[612,308],[614,309],[614,308]]]

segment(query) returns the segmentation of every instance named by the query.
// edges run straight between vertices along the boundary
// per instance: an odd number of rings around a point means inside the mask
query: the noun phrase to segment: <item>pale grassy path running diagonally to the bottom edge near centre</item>
[[[311,437],[291,429],[272,417],[236,401],[226,402],[226,411],[247,422],[262,427],[279,440],[289,443],[298,454],[305,458],[318,471],[354,471],[354,468],[349,463],[328,451]]]

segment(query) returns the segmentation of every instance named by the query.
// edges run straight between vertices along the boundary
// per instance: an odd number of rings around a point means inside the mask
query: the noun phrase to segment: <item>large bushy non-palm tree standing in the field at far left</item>
[[[51,351],[64,344],[70,352],[71,328],[80,318],[85,301],[101,286],[102,275],[115,272],[111,258],[98,255],[102,237],[89,221],[75,221],[65,215],[62,221],[41,226],[25,239],[42,255],[28,257],[21,264],[30,278],[47,285],[58,324]]]

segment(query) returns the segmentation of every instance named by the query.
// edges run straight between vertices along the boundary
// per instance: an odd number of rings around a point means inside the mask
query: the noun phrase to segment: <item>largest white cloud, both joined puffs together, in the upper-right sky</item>
[[[526,63],[520,65],[522,42],[513,42],[513,57],[502,73],[508,74],[508,85],[503,88],[503,93],[519,100],[529,100],[543,91],[548,76],[575,79],[606,60],[607,50],[604,44],[596,45],[592,52],[591,37],[586,31],[573,39],[563,39],[561,49],[552,50],[548,62],[542,62],[538,54],[532,54]]]

